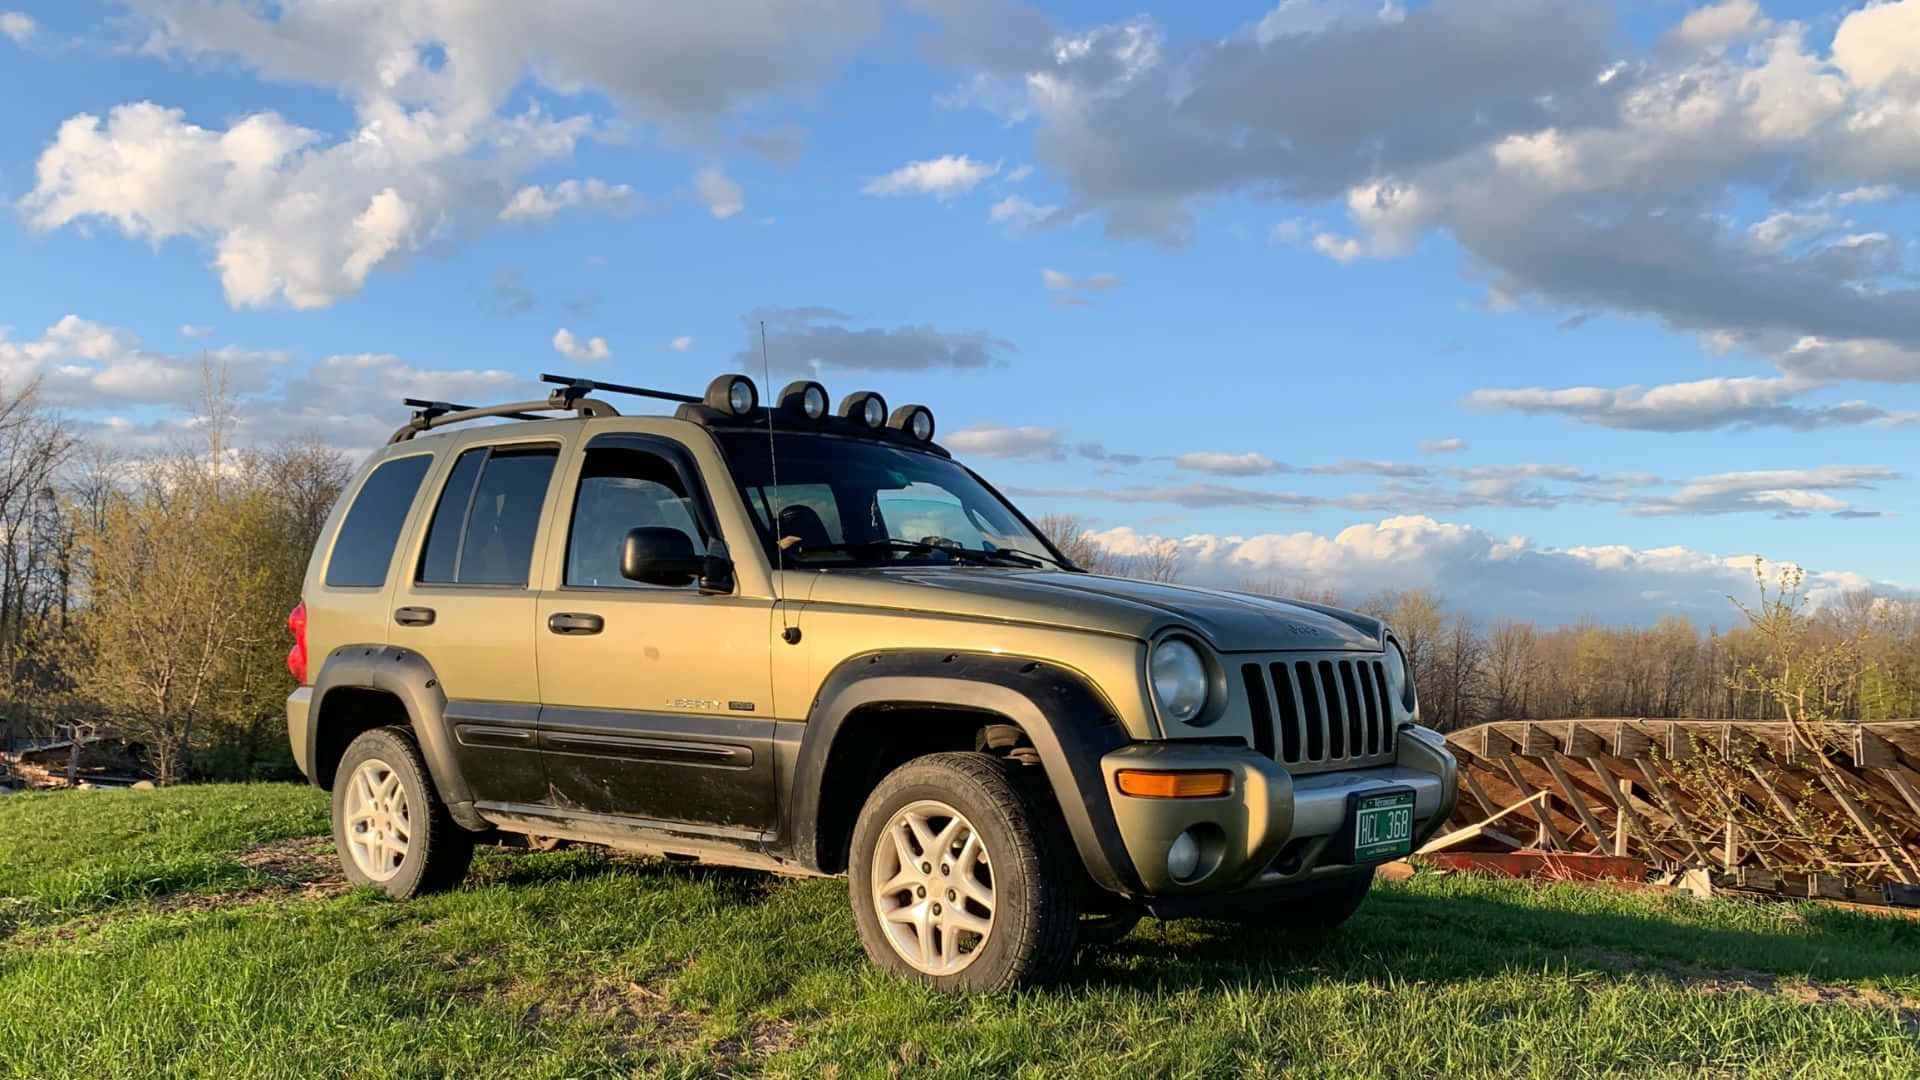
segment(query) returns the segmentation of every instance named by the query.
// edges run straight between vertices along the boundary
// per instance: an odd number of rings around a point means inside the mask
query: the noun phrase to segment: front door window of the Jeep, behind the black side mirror
[[[620,577],[630,528],[678,528],[695,552],[707,550],[693,500],[668,459],[645,450],[589,450],[566,536],[566,584],[645,588]]]

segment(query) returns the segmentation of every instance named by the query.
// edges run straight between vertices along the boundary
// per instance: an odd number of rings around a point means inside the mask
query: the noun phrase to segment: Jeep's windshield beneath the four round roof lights
[[[1014,507],[947,457],[780,432],[774,486],[764,430],[718,440],[770,559],[778,544],[791,567],[1058,565]]]

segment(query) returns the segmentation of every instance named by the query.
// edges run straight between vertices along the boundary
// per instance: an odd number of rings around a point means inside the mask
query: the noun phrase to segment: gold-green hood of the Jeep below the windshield
[[[1273,596],[998,567],[814,571],[808,603],[927,611],[1152,638],[1194,630],[1217,651],[1379,650],[1380,621]]]

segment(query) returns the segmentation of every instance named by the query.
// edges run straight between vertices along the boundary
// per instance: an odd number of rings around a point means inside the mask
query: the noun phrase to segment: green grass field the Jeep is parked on
[[[394,903],[294,786],[0,798],[6,1076],[1920,1076],[1920,922],[1380,884],[1321,945],[1144,922],[1062,986],[866,969],[839,880],[486,851]]]

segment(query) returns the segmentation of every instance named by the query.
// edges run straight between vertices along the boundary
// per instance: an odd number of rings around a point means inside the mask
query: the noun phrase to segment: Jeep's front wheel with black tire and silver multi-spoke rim
[[[868,796],[847,878],[876,967],[995,994],[1073,963],[1073,851],[1016,769],[985,753],[931,753]]]

